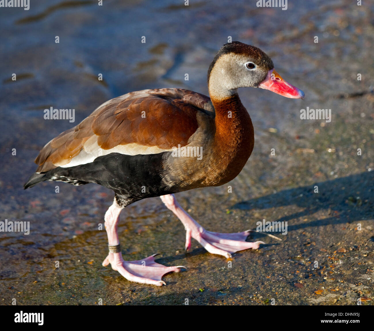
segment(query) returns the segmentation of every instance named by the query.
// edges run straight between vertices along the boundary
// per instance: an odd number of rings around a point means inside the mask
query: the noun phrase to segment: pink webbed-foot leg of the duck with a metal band
[[[117,224],[121,210],[122,208],[118,206],[116,199],[114,199],[113,204],[105,213],[105,230],[107,230],[110,246],[119,245]],[[185,268],[183,265],[165,267],[162,264],[156,263],[154,262],[154,256],[156,255],[154,254],[138,261],[124,261],[121,252],[109,252],[102,265],[106,267],[110,263],[113,270],[117,270],[123,277],[132,282],[157,286],[166,285],[162,280],[164,274],[171,271],[179,272],[179,268]]]

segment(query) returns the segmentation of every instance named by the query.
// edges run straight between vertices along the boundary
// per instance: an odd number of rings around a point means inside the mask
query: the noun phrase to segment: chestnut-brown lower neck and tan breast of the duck
[[[181,190],[219,186],[234,179],[242,170],[254,146],[251,118],[236,94],[214,100],[215,118],[198,116],[199,129],[187,146],[202,146],[203,157],[165,161],[165,182]]]

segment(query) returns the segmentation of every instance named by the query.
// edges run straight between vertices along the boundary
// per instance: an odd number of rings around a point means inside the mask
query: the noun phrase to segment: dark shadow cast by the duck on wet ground
[[[315,192],[318,188],[318,193]],[[302,211],[282,216],[271,221],[287,221],[288,231],[300,228],[317,227],[328,224],[352,223],[374,216],[374,172],[368,171],[352,176],[341,177],[325,182],[317,182],[310,186],[286,189],[234,204],[231,209],[267,209],[295,205]],[[302,224],[292,224],[295,218],[306,217],[320,210],[328,213],[328,217]],[[257,237],[258,234],[255,234]]]

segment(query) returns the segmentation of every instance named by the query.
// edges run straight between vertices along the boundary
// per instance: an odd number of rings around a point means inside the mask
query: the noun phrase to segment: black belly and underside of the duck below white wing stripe
[[[146,155],[111,153],[93,162],[75,167],[57,167],[46,173],[44,180],[73,185],[97,183],[112,189],[117,202],[125,207],[135,201],[179,192],[176,186],[163,182],[164,160],[171,152]]]

